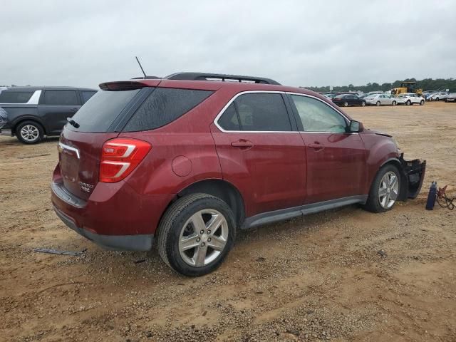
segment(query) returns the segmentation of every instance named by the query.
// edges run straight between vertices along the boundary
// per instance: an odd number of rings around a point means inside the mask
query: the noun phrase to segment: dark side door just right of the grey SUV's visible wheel
[[[48,135],[60,133],[66,118],[71,118],[79,108],[81,99],[77,90],[43,90],[38,103],[38,113]]]

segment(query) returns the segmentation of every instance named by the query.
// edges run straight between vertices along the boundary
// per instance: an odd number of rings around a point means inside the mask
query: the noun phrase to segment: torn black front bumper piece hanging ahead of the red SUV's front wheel
[[[400,201],[405,201],[408,198],[416,198],[420,193],[423,180],[425,178],[426,161],[419,159],[405,160],[404,154],[399,157],[400,165],[402,166],[402,182],[400,187]]]

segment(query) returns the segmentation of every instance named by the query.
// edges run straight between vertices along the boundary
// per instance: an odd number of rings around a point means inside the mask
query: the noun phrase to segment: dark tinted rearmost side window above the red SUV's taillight
[[[140,105],[125,132],[153,130],[171,123],[202,103],[213,91],[157,88]]]

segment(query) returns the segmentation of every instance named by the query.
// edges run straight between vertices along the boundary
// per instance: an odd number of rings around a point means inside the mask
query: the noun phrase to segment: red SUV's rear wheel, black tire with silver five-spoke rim
[[[216,218],[219,221],[211,231],[209,222]],[[165,264],[177,273],[203,276],[222,264],[235,237],[232,209],[217,197],[192,194],[177,199],[163,215],[157,249]],[[187,246],[183,244],[185,240]],[[212,248],[216,246],[217,249]]]

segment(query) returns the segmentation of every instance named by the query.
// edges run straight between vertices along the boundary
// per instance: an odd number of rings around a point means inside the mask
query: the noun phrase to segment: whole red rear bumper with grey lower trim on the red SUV
[[[109,249],[150,250],[163,212],[175,195],[143,195],[128,183],[99,182],[88,199],[64,187],[57,166],[51,201],[57,216],[71,229]]]

